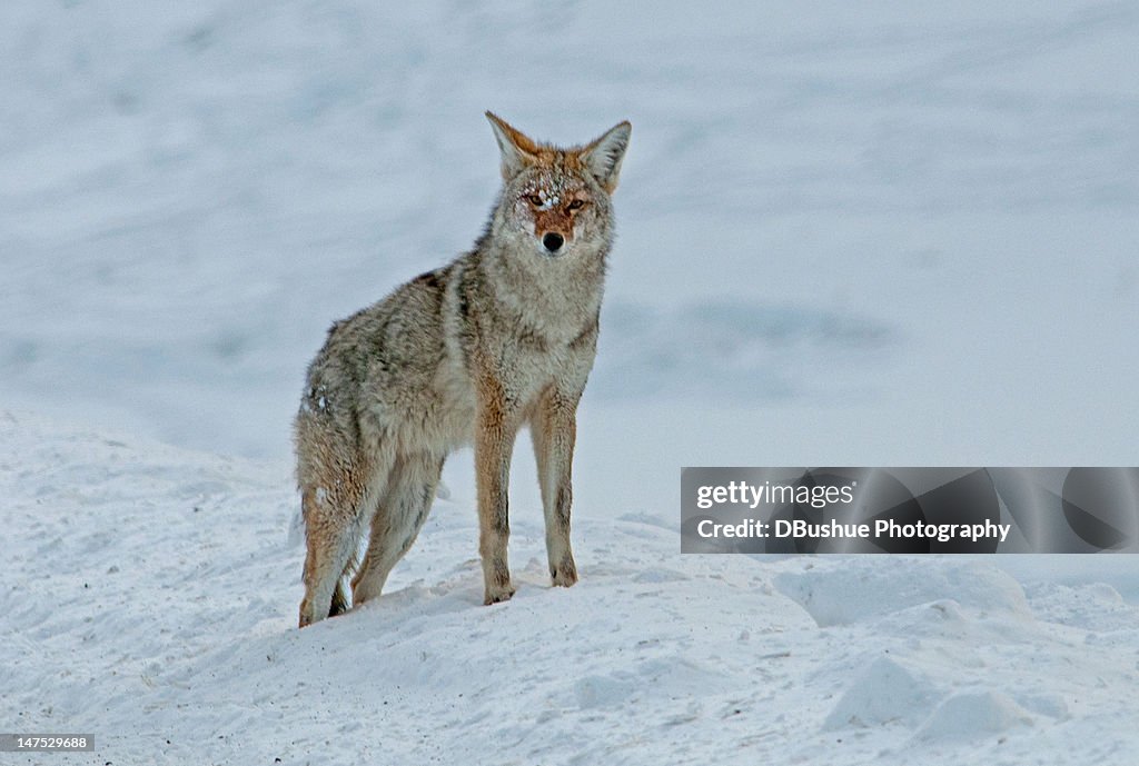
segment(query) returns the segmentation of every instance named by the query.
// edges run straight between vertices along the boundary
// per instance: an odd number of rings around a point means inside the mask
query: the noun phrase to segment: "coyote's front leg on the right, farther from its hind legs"
[[[539,400],[530,425],[546,514],[546,553],[550,577],[555,585],[563,587],[577,582],[577,566],[570,547],[570,508],[573,503],[571,473],[580,398],[580,393],[564,394],[551,386]]]

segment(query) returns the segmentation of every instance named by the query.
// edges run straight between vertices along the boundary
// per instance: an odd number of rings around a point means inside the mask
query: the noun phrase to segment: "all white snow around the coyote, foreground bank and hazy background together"
[[[682,466],[1137,463],[1139,9],[382,6],[0,3],[0,730],[116,766],[1132,766],[1132,557],[681,557],[677,524]],[[523,587],[477,606],[462,453],[391,596],[297,632],[304,365],[470,245],[487,108],[633,123],[583,580],[546,587],[521,451]]]

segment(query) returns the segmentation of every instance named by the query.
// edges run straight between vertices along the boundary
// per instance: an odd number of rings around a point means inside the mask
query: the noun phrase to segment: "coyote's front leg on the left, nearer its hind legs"
[[[510,454],[518,430],[515,407],[501,386],[482,386],[475,425],[475,483],[478,495],[478,553],[483,560],[483,603],[514,595],[507,544],[510,540],[508,492]]]

